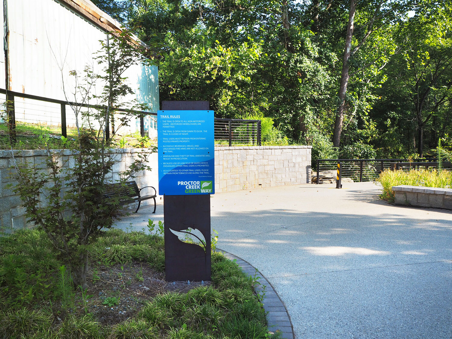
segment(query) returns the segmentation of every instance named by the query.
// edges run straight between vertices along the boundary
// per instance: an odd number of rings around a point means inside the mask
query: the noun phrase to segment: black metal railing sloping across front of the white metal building
[[[46,98],[38,95],[6,91],[0,89],[0,94],[5,94],[5,117],[0,117],[0,136],[8,134],[14,141],[28,137],[36,137],[37,132],[45,130],[52,135],[67,137],[68,128],[75,127],[75,114],[67,106],[77,106],[89,109],[105,109],[102,105],[76,103],[71,101]],[[18,99],[22,100],[18,100]],[[25,101],[24,99],[28,99]],[[157,113],[114,108],[117,112],[130,112],[140,118],[140,135],[145,136],[145,117],[156,116]],[[110,128],[107,129],[109,134]],[[108,135],[107,135],[108,137]]]

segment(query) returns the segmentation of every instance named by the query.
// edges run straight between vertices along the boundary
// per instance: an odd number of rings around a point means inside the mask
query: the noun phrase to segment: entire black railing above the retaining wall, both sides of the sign
[[[2,137],[5,141],[28,140],[43,132],[52,137],[67,137],[68,134],[75,134],[75,114],[70,106],[94,110],[106,108],[102,105],[76,103],[5,89],[0,89],[0,94],[6,94],[3,100],[0,99],[0,102],[4,101],[4,107],[0,111],[5,113],[0,116],[0,143]],[[157,129],[157,113],[124,108],[114,108],[113,112],[131,112],[137,115],[140,118],[141,137],[146,135],[145,117],[150,118],[147,128]],[[106,129],[107,134],[112,128],[110,124]],[[215,118],[214,137],[217,146],[261,146],[261,121]]]

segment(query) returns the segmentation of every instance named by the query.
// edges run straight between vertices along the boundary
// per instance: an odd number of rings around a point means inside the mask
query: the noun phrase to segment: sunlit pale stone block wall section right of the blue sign
[[[309,184],[312,146],[215,149],[215,192]]]

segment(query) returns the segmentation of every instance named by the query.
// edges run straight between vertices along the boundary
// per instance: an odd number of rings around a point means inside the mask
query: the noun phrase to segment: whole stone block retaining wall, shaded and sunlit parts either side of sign
[[[118,163],[113,166],[109,181],[119,179],[119,174],[136,159],[140,148],[115,149]],[[55,152],[60,152],[55,150]],[[25,161],[35,167],[42,167],[47,151],[28,150],[14,151],[16,161]],[[75,164],[71,159],[72,151],[63,151],[62,159],[68,166]],[[11,151],[0,151],[0,227],[23,228],[26,225],[24,207],[18,195],[15,195],[9,184],[14,158]],[[158,160],[157,153],[148,157],[152,171],[137,173],[138,187],[154,186],[158,193]],[[215,191],[229,192],[245,188],[271,187],[310,183],[311,178],[311,146],[257,146],[257,147],[216,147],[215,149]],[[150,193],[152,191],[149,191]],[[147,192],[143,193],[147,194]],[[157,201],[161,200],[157,197]],[[145,200],[143,206],[153,204],[153,200]],[[135,204],[133,206],[136,207]],[[130,205],[133,208],[132,204]]]

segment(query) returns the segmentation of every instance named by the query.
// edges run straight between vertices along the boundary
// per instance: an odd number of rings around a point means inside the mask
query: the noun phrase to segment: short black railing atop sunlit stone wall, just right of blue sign
[[[217,146],[261,146],[260,120],[215,118]]]

